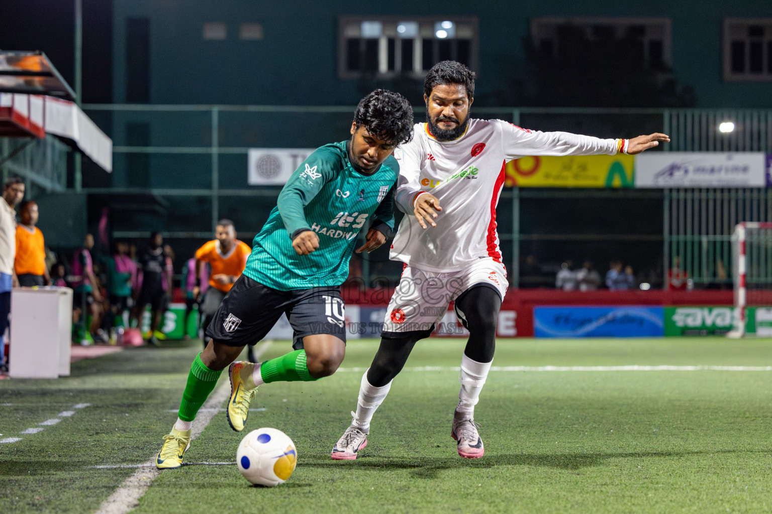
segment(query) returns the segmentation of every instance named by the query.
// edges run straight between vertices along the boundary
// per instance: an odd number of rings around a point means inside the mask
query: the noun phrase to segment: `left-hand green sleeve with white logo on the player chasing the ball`
[[[318,148],[300,163],[279,193],[276,207],[279,207],[279,215],[290,238],[298,230],[310,230],[303,208],[317,196],[324,184],[337,175],[333,166],[336,157],[330,149],[324,146]]]

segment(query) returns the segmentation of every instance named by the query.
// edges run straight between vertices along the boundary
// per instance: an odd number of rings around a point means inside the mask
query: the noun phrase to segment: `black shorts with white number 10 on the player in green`
[[[255,344],[286,314],[293,328],[293,348],[303,348],[308,335],[331,334],[346,342],[344,302],[340,287],[279,291],[242,274],[225,295],[206,335],[228,346]]]

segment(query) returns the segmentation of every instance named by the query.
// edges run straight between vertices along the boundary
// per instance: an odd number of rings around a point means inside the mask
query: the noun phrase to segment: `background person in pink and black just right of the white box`
[[[80,307],[80,321],[86,328],[86,313],[91,314],[89,333],[95,342],[106,343],[107,334],[100,328],[102,326],[102,294],[100,294],[99,281],[94,275],[91,250],[94,247],[94,238],[90,233],[83,237],[83,247],[76,251],[73,257],[73,306]],[[83,343],[85,338],[81,337]],[[87,344],[87,343],[86,343]]]

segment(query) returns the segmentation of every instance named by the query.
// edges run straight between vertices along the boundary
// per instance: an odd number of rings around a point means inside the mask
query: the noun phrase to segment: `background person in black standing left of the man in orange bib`
[[[158,345],[158,339],[166,336],[158,330],[161,324],[161,316],[166,311],[171,298],[171,278],[174,270],[170,267],[168,255],[164,251],[164,237],[161,233],[151,233],[150,241],[145,250],[139,256],[138,275],[141,276],[141,287],[137,295],[137,304],[131,311],[132,324],[137,322],[137,328],[142,325],[142,314],[145,307],[150,304],[151,321],[150,330],[144,334],[145,340],[153,346]]]

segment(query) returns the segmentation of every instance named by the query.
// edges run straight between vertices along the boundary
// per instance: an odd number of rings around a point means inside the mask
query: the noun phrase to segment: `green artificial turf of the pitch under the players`
[[[354,462],[330,460],[377,341],[350,341],[343,370],[260,388],[247,430],[286,432],[299,461],[273,489],[233,465],[189,465],[154,481],[134,512],[767,512],[772,371],[492,371],[476,410],[486,446],[450,437],[464,341],[419,343]],[[277,341],[264,355],[289,351]],[[73,365],[58,381],[0,381],[0,512],[93,512],[150,459],[174,422],[198,345],[138,348]],[[772,341],[723,338],[499,340],[494,365],[772,366]],[[235,459],[242,434],[215,415],[188,462]]]

